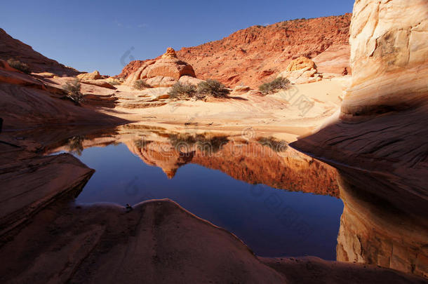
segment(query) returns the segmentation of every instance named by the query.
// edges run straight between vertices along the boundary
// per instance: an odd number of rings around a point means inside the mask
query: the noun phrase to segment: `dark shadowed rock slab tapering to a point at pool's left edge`
[[[38,156],[0,142],[0,236],[71,190],[82,189],[94,170],[70,154]]]

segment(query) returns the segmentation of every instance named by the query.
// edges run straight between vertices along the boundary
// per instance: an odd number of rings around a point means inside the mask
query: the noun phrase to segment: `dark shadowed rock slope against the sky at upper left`
[[[62,65],[55,60],[46,58],[44,55],[33,50],[18,39],[13,39],[0,28],[0,60],[19,60],[29,66],[31,72],[51,72],[59,76],[76,76],[80,72],[71,67]]]

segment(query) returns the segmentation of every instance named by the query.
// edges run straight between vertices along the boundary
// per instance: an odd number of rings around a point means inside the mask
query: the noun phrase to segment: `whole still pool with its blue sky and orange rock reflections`
[[[349,168],[337,175],[271,135],[128,125],[59,135],[46,146],[79,151],[97,170],[78,201],[168,197],[258,255],[316,255],[427,276],[427,203],[409,194],[406,180]]]

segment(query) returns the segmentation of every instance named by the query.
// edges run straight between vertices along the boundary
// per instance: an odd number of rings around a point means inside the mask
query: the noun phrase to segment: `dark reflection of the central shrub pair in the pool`
[[[170,135],[170,142],[177,151],[193,151],[199,149],[204,153],[213,154],[229,141],[226,136],[205,137],[202,134]]]

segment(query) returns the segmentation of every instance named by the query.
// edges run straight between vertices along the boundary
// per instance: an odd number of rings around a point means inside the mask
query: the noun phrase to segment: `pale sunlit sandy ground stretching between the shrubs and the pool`
[[[349,77],[293,85],[274,95],[231,93],[227,99],[175,101],[166,98],[168,88],[133,90],[116,86],[119,98],[105,114],[147,125],[196,126],[199,129],[290,133],[304,135],[335,113]]]

